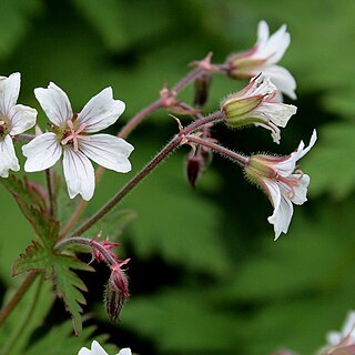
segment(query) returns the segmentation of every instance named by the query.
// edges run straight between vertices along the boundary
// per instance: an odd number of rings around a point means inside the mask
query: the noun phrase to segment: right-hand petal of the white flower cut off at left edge
[[[36,124],[37,110],[23,104],[17,104],[12,106],[8,118],[11,121],[10,134],[20,134]]]

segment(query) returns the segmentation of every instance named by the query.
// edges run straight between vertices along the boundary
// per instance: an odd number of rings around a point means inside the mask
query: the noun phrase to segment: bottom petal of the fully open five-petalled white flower
[[[95,189],[94,171],[90,160],[83,153],[67,148],[63,169],[70,199],[81,194],[83,200],[89,201]]]

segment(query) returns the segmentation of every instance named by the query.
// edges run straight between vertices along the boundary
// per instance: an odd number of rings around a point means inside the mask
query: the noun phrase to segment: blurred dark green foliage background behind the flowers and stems
[[[97,274],[83,275],[90,291],[84,327],[141,354],[245,355],[283,347],[311,354],[327,331],[339,328],[355,307],[355,1],[0,0],[0,72],[21,72],[19,102],[38,109],[42,129],[47,120],[33,89],[49,81],[67,91],[74,110],[112,85],[114,98],[126,103],[118,130],[158,98],[164,82],[173,85],[184,75],[191,61],[213,51],[222,63],[251,48],[262,19],[272,32],[287,23],[292,43],[281,64],[296,78],[298,112],[282,131],[282,144],[263,130],[214,129],[231,149],[286,154],[317,128],[318,142],[302,162],[312,176],[310,201],[295,207],[287,235],[273,242],[270,202],[220,156],[193,191],[182,149],[124,200],[138,217],[119,239],[120,256],[132,258],[132,297],[121,322],[108,321],[108,271],[98,266]],[[206,112],[243,84],[215,77]],[[181,98],[191,102],[191,88]],[[144,121],[128,139],[135,146],[133,170],[175,131],[166,112]],[[88,214],[132,175],[106,172]],[[11,278],[11,264],[33,235],[3,189],[0,199],[1,301],[21,278]],[[63,212],[70,211],[69,204]],[[75,354],[79,344],[89,346],[90,332],[88,339],[65,339],[69,315],[50,294],[48,282],[22,346],[34,354],[44,337],[37,354]],[[0,344],[1,337],[3,332]]]

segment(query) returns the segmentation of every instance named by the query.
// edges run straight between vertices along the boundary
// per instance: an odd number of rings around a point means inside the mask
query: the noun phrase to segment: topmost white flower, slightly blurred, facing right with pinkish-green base
[[[283,24],[274,34],[270,36],[268,26],[260,21],[257,27],[257,41],[254,47],[240,54],[229,58],[229,74],[236,79],[246,79],[262,73],[270,77],[278,91],[291,99],[296,99],[296,81],[290,71],[276,65],[282,59],[291,42],[286,24]]]

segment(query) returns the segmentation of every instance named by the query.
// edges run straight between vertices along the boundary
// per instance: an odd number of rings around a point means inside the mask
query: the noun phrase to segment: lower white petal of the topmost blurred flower
[[[261,68],[260,71],[263,72],[263,77],[270,77],[272,82],[276,85],[277,90],[285,93],[293,100],[296,100],[296,81],[290,73],[290,71],[280,65],[271,65]],[[254,71],[257,73],[257,71]]]

